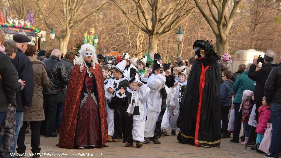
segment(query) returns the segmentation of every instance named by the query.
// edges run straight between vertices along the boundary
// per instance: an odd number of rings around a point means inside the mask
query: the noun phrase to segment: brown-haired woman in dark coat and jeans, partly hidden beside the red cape
[[[66,73],[68,74],[68,79],[69,79],[71,71],[74,67],[74,59],[75,59],[74,52],[68,51],[68,52],[66,52],[64,58],[62,58],[60,60],[64,64]],[[61,90],[59,91],[58,106],[57,106],[57,110],[56,110],[56,122],[54,123],[54,126],[53,126],[54,133],[56,133],[56,132],[60,133],[61,116],[62,116],[62,111],[64,110],[66,91],[67,91],[67,86],[62,84]]]

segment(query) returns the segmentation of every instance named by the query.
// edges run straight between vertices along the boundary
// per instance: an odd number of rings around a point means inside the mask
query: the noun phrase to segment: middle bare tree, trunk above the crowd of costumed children
[[[175,30],[194,8],[189,0],[166,0],[165,3],[161,3],[161,0],[131,0],[136,6],[138,18],[135,18],[126,11],[126,3],[111,1],[128,20],[148,35],[149,52],[157,52],[158,40]]]

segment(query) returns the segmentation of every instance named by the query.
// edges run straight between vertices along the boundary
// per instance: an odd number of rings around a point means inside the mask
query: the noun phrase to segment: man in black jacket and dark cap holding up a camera
[[[273,51],[267,51],[264,54],[264,65],[263,67],[256,71],[258,59],[253,60],[253,64],[250,66],[248,77],[251,80],[256,81],[256,90],[254,94],[254,103],[256,104],[256,118],[258,118],[258,108],[262,105],[262,100],[264,96],[264,85],[267,77],[272,68],[276,67],[278,64],[274,62],[276,54]]]

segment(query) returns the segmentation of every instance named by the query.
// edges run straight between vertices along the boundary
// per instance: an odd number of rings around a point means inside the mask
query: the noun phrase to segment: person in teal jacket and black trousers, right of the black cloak
[[[246,71],[244,71],[237,80],[235,81],[232,89],[236,93],[233,104],[234,104],[234,133],[232,140],[230,142],[239,143],[239,134],[241,130],[241,121],[242,121],[242,111],[239,111],[240,104],[242,102],[242,95],[244,90],[255,90],[255,81],[251,80],[248,77],[249,68],[252,63],[246,65]]]

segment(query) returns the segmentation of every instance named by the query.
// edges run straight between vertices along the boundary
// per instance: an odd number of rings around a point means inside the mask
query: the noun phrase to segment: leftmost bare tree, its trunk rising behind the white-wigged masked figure
[[[56,0],[44,3],[37,0],[36,4],[42,12],[47,28],[60,31],[56,33],[56,39],[59,40],[59,49],[66,53],[71,32],[83,25],[85,20],[93,16],[106,1],[96,1],[96,6],[92,6],[87,0]]]

